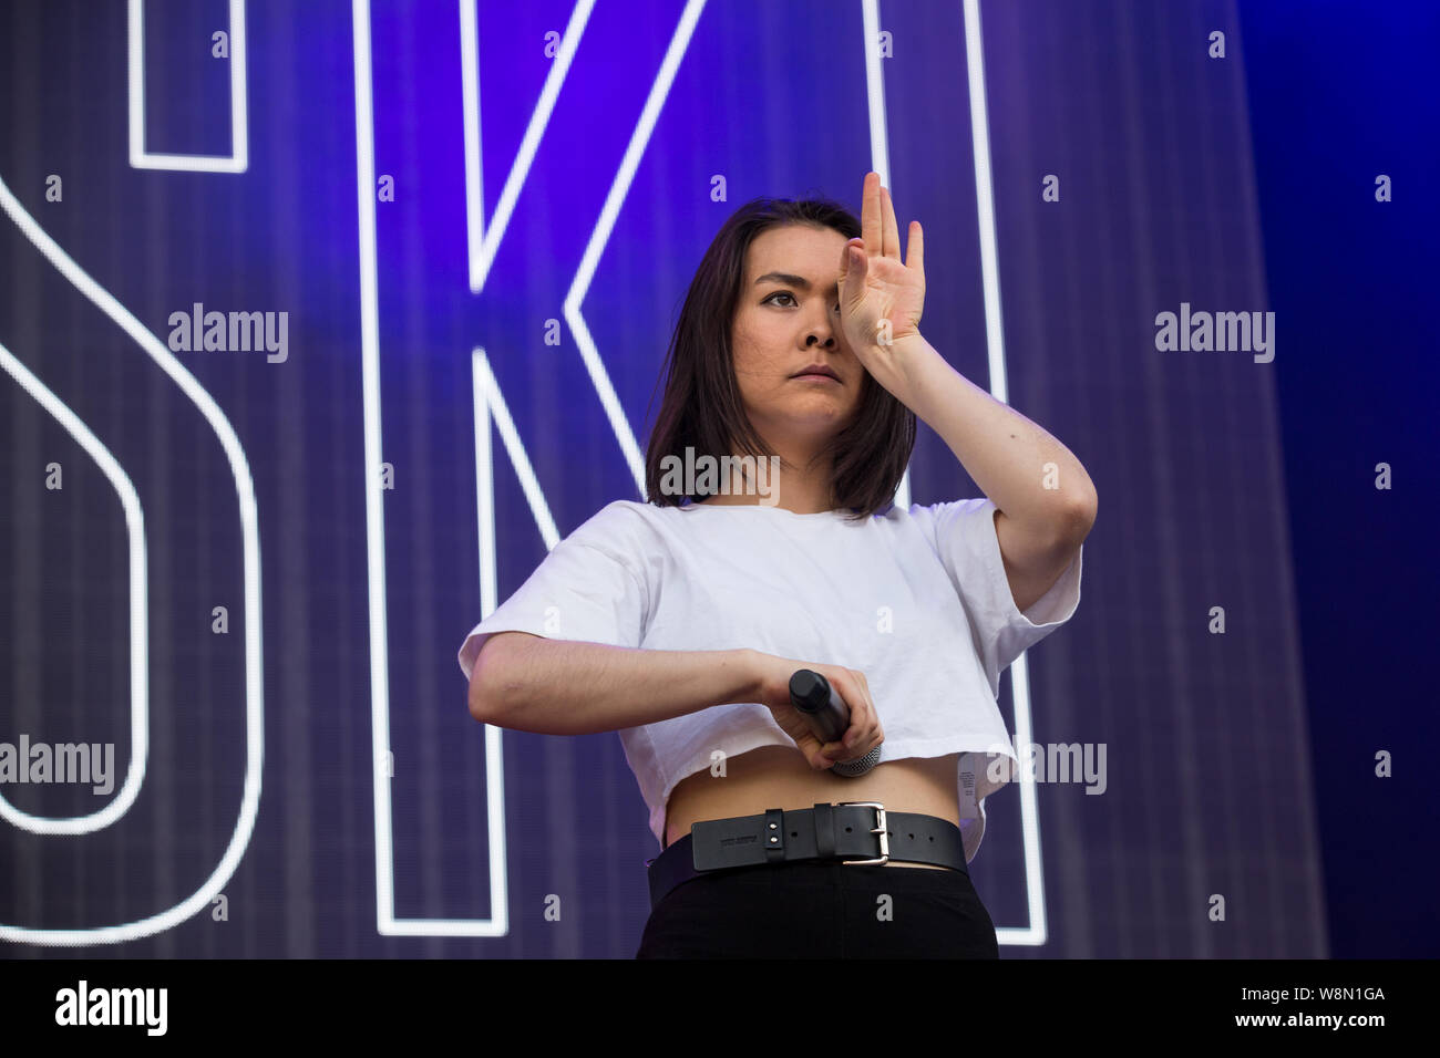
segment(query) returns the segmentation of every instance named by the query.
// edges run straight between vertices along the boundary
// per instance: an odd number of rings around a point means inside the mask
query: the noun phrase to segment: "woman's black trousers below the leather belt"
[[[999,944],[968,874],[799,861],[677,885],[635,957],[999,959]]]

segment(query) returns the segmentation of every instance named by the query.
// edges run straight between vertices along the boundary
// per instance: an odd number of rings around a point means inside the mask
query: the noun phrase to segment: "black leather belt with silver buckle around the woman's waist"
[[[755,816],[704,819],[649,865],[649,905],[691,878],[762,864],[840,859],[852,865],[887,861],[935,864],[965,871],[960,828],[917,812],[886,812],[876,800],[766,809]],[[968,871],[965,871],[969,874]]]

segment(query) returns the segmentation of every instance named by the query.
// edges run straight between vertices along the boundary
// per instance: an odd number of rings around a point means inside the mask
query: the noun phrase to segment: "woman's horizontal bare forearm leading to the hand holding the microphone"
[[[642,651],[498,633],[475,661],[469,711],[534,734],[616,731],[750,701],[755,658],[749,649]]]

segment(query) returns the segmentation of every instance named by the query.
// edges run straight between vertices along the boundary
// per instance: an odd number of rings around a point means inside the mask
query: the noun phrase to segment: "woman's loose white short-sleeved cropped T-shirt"
[[[752,648],[865,674],[884,727],[880,760],[959,753],[965,859],[985,833],[988,754],[1015,759],[999,675],[1080,603],[1081,554],[1021,613],[988,498],[845,511],[616,499],[562,540],[459,651],[468,679],[495,632],[655,651]],[[670,792],[759,746],[795,747],[762,704],[713,705],[619,731],[664,845]],[[796,749],[796,753],[799,750]]]

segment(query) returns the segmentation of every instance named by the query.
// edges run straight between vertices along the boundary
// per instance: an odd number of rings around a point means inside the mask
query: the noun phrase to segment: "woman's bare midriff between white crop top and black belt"
[[[805,754],[788,746],[760,746],[726,759],[726,774],[710,769],[685,776],[665,805],[665,848],[690,833],[703,819],[756,816],[766,809],[802,809],[841,800],[878,800],[886,812],[916,812],[960,822],[956,772],[959,753],[906,757],[876,764],[863,776],[816,772]],[[936,864],[894,861],[886,867],[949,871]]]

